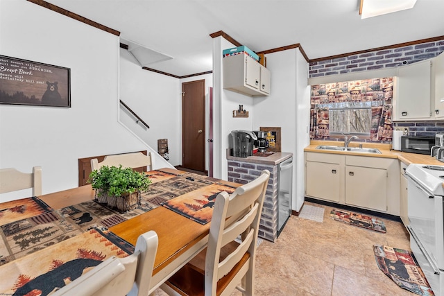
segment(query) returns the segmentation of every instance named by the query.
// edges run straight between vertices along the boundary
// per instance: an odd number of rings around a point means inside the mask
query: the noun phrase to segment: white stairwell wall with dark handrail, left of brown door
[[[182,164],[182,98],[180,80],[142,69],[120,49],[120,99],[150,127],[136,123],[121,107],[120,119],[157,153],[157,139],[168,139],[169,163]],[[159,161],[157,161],[159,162]]]

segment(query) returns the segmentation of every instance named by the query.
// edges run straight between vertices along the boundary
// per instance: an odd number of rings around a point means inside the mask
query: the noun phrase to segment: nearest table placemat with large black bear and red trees
[[[108,229],[90,229],[3,265],[0,295],[49,295],[110,256],[126,257],[133,252],[133,245]]]

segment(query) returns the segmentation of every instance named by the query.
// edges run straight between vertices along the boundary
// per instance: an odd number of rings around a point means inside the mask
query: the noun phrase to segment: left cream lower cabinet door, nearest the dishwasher
[[[306,195],[339,202],[341,197],[341,165],[324,162],[306,162],[306,164]]]

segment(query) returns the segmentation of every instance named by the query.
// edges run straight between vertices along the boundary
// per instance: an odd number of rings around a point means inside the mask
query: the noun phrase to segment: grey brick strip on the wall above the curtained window
[[[309,78],[399,67],[434,58],[444,51],[444,40],[383,49],[309,63]]]

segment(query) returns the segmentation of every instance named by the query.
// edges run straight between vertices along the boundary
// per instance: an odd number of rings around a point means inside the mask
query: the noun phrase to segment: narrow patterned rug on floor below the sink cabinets
[[[352,211],[332,209],[332,211],[330,212],[330,218],[336,221],[347,223],[349,225],[374,230],[375,232],[386,233],[387,231],[384,221],[372,216],[353,213]]]

